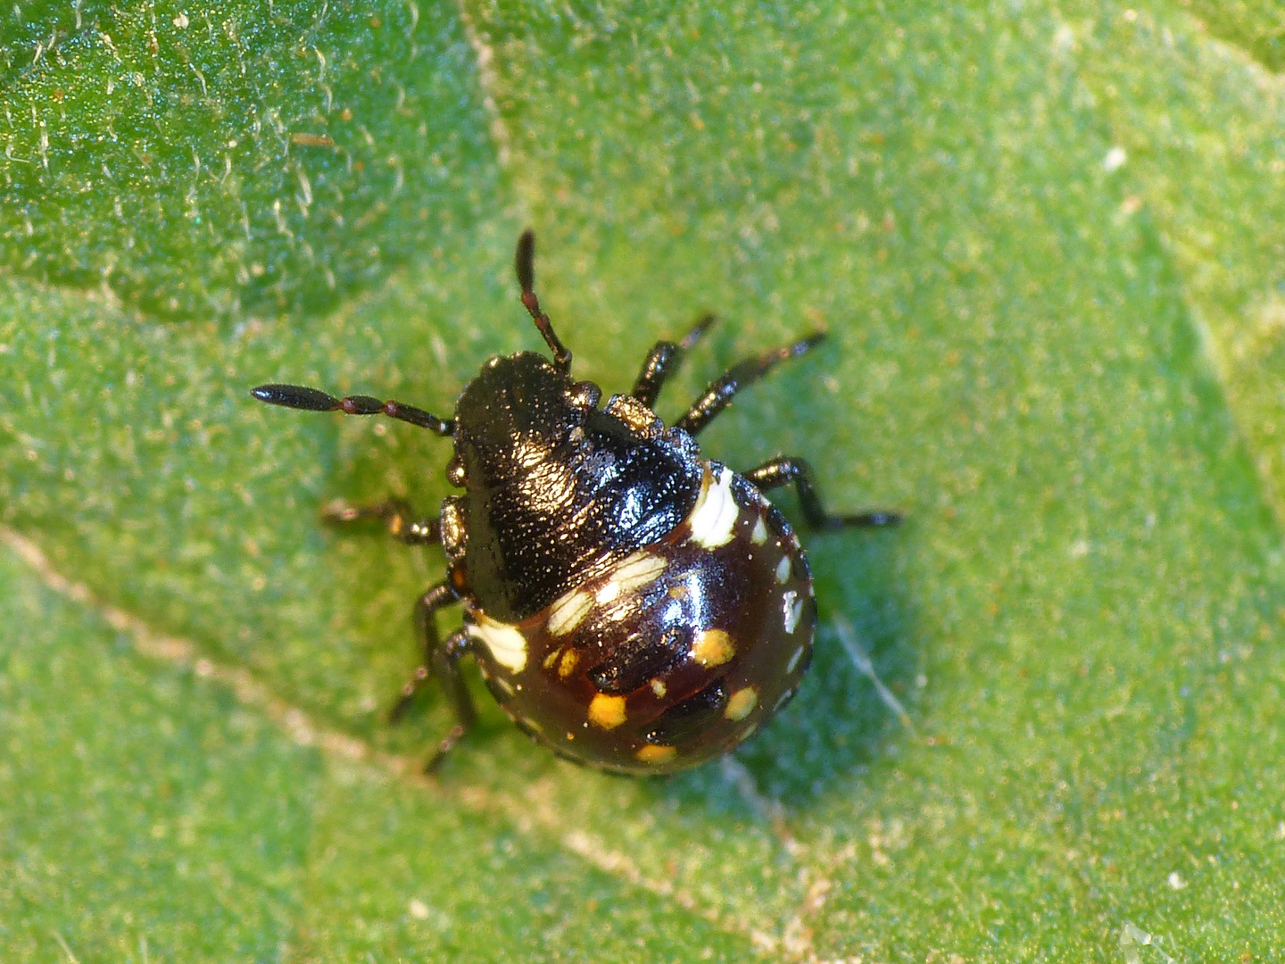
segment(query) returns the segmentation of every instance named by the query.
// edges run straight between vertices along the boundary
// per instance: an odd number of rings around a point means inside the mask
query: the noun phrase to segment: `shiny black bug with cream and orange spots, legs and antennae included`
[[[518,242],[522,303],[551,359],[492,357],[438,418],[397,401],[337,398],[265,384],[256,398],[308,411],[387,415],[455,445],[463,488],[437,518],[400,501],[339,505],[335,522],[382,519],[410,545],[441,544],[447,578],[416,603],[424,665],[398,717],[430,677],[455,725],[429,770],[474,725],[460,659],[472,654],[513,721],[559,756],[603,770],[662,774],[721,756],[780,710],[812,656],[816,602],[798,537],[763,496],[793,485],[813,530],[888,526],[891,512],[830,515],[802,459],[736,473],[702,456],[699,432],[732,397],[821,338],[747,359],[712,382],[673,425],[657,396],[713,317],[651,348],[628,395],[571,378],[571,352],[533,290],[535,235]],[[445,640],[434,613],[463,603]]]

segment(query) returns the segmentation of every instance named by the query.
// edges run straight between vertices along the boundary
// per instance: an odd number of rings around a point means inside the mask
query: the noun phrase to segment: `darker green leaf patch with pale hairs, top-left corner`
[[[162,317],[332,308],[497,190],[448,8],[19,0],[0,67],[0,263]]]

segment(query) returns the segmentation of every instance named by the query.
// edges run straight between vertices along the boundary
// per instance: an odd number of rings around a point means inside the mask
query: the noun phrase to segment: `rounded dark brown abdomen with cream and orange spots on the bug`
[[[784,517],[705,463],[695,506],[660,540],[533,616],[466,621],[519,726],[580,762],[655,774],[721,756],[793,695],[816,605]]]

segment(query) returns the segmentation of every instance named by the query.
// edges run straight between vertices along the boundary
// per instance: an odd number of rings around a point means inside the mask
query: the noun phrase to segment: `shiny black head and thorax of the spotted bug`
[[[468,544],[452,555],[493,620],[538,613],[658,541],[700,492],[686,432],[630,424],[627,400],[599,409],[589,388],[520,352],[487,362],[456,402]]]

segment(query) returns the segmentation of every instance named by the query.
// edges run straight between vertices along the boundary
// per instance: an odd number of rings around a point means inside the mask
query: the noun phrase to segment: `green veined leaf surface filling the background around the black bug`
[[[1190,6],[0,14],[5,959],[1270,958],[1285,81],[1273,5]],[[433,512],[443,442],[248,397],[447,414],[538,344],[527,225],[608,392],[720,314],[667,418],[828,328],[703,447],[907,513],[806,537],[816,667],[727,765],[478,688],[419,778],[442,557],[317,508]]]

